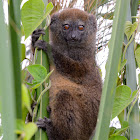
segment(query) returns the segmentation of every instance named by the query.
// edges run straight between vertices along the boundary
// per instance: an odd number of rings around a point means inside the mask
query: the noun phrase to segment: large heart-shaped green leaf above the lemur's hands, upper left
[[[53,4],[50,2],[46,7],[42,0],[29,0],[27,1],[21,10],[21,20],[25,32],[25,38],[27,38],[47,17],[47,15],[53,9]]]

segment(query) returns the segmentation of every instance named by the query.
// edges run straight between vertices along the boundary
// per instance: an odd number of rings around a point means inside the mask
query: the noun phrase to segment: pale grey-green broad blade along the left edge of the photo
[[[15,140],[15,91],[12,50],[4,23],[3,3],[0,1],[0,102],[2,102],[3,140]]]

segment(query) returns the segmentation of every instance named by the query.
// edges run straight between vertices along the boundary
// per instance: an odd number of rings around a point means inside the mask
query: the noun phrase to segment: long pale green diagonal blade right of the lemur
[[[107,140],[109,132],[109,123],[111,118],[112,100],[116,87],[118,64],[121,55],[123,43],[124,25],[126,13],[130,0],[117,0],[115,7],[115,18],[113,20],[113,30],[111,41],[109,43],[109,60],[105,83],[102,92],[98,124],[95,134],[95,140]]]

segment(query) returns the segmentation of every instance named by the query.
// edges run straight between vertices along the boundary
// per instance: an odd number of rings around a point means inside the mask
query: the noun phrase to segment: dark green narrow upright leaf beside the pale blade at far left
[[[21,109],[21,73],[20,73],[20,1],[10,0],[9,6],[10,39],[12,47],[12,61],[14,69],[14,85],[16,97],[17,118],[22,118]]]

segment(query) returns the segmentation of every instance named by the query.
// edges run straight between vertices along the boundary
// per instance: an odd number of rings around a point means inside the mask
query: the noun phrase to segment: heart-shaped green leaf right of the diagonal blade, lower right
[[[119,115],[133,101],[136,93],[134,91],[131,96],[131,89],[126,85],[121,85],[116,88],[112,119]]]

